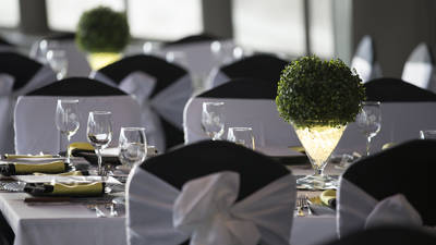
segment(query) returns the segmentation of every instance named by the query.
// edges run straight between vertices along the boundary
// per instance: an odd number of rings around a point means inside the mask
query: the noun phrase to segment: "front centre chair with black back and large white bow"
[[[179,147],[132,170],[128,244],[289,244],[295,195],[289,170],[245,147]]]

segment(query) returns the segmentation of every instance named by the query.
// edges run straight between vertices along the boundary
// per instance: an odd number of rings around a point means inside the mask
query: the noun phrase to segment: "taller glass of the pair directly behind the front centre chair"
[[[225,133],[225,102],[203,102],[202,128],[213,140]]]

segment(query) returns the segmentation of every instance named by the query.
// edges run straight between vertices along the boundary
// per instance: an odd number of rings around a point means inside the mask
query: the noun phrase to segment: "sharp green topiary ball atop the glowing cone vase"
[[[302,57],[284,68],[276,105],[295,126],[339,126],[355,120],[365,99],[359,75],[341,60]]]

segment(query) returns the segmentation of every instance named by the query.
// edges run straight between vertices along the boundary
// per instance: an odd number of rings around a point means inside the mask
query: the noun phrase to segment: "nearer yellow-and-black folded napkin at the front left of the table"
[[[34,196],[73,196],[89,197],[101,196],[105,193],[105,183],[94,182],[89,184],[44,184],[27,183],[24,192]]]

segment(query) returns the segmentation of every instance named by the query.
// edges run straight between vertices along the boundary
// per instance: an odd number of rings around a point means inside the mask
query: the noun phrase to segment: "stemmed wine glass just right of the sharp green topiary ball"
[[[380,102],[362,102],[362,111],[358,114],[355,122],[360,131],[366,136],[366,156],[370,156],[371,139],[377,135],[382,127]]]

